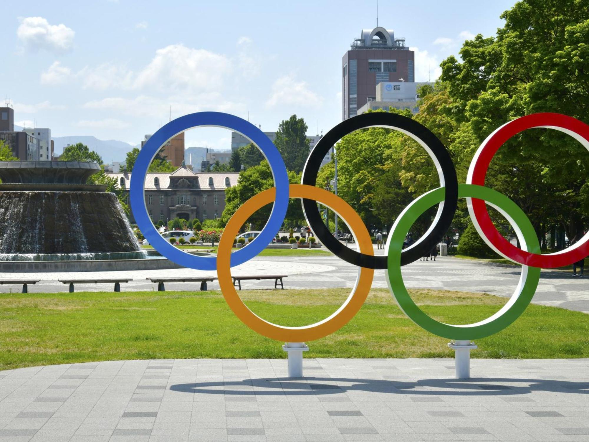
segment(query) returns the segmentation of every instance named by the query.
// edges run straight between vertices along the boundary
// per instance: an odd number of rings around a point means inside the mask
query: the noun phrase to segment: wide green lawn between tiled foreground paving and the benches
[[[256,314],[305,325],[335,311],[348,289],[241,291]],[[436,319],[478,321],[505,298],[484,293],[412,291]],[[0,295],[0,369],[148,358],[286,358],[233,315],[220,292],[77,292]],[[370,291],[355,318],[307,342],[305,357],[452,357],[448,339],[419,328],[385,289]],[[589,315],[538,305],[496,335],[477,341],[474,358],[589,357]]]

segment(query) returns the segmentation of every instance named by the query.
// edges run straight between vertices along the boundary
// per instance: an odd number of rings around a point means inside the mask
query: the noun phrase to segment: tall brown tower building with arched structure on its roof
[[[376,100],[376,84],[415,81],[415,53],[392,29],[362,29],[360,38],[342,57],[342,120]]]

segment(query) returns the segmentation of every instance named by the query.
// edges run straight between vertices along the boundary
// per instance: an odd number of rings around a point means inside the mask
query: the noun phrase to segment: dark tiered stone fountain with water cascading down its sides
[[[3,169],[3,163],[11,163],[12,169]],[[0,260],[145,258],[115,194],[85,184],[97,165],[27,161],[18,167],[15,163],[0,162]],[[31,167],[31,163],[45,164]],[[58,164],[53,173],[47,163]],[[84,167],[87,164],[92,167]],[[12,176],[14,169],[18,180]]]

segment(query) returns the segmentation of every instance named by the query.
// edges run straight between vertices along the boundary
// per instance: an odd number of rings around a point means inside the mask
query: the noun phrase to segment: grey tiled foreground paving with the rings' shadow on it
[[[172,359],[0,372],[0,440],[587,441],[589,359]]]

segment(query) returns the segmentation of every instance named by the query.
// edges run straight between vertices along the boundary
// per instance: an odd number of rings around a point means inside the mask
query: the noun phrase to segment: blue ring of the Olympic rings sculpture
[[[233,267],[254,258],[254,256],[262,252],[272,242],[274,235],[279,232],[282,226],[289,204],[289,177],[282,156],[280,156],[278,149],[270,141],[270,138],[259,128],[249,123],[249,121],[221,112],[197,112],[176,118],[176,120],[170,121],[170,123],[162,126],[144,144],[133,166],[132,177],[134,177],[131,180],[131,187],[129,189],[131,210],[133,210],[135,222],[137,222],[137,226],[141,230],[141,233],[143,233],[143,236],[163,256],[166,256],[166,258],[181,266],[192,269],[217,269],[217,258],[215,256],[188,255],[188,253],[184,253],[182,250],[168,243],[155,229],[145,206],[145,176],[155,154],[157,154],[160,147],[166,141],[176,136],[176,134],[198,126],[216,126],[231,129],[252,140],[262,151],[268,163],[270,163],[270,170],[272,170],[274,177],[276,200],[274,200],[270,218],[256,239],[249,243],[247,247],[231,253],[231,266]],[[141,176],[141,180],[138,179],[138,176]]]

